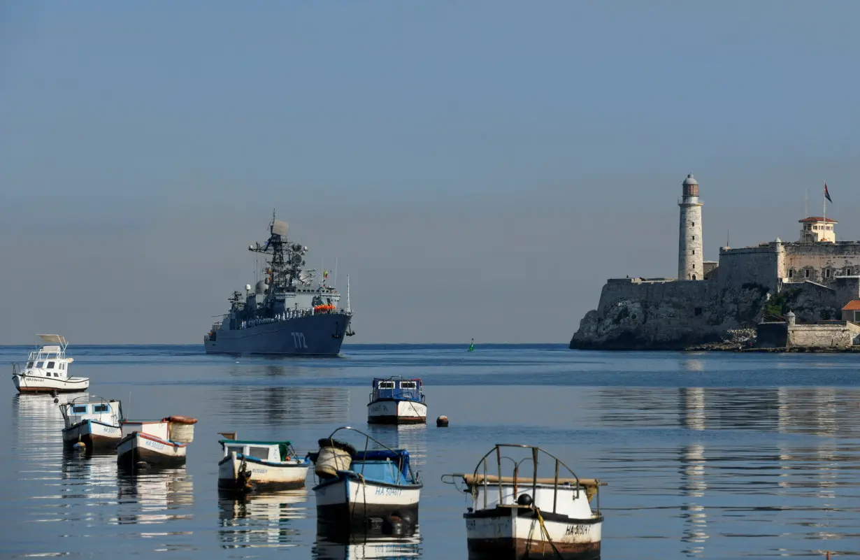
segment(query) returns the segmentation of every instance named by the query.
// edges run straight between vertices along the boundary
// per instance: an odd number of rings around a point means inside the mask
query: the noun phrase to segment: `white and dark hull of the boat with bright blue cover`
[[[341,472],[314,487],[316,515],[321,522],[362,525],[367,518],[396,516],[408,525],[418,524],[421,484],[395,485],[363,481]]]

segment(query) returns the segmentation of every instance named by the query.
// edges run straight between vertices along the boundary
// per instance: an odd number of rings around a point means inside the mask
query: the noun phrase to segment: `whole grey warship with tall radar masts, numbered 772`
[[[248,250],[266,255],[263,280],[233,292],[230,311],[203,337],[206,354],[337,355],[353,311],[339,306],[341,294],[328,286],[328,273],[304,269],[308,248],[286,237],[288,225],[272,216],[265,245]]]

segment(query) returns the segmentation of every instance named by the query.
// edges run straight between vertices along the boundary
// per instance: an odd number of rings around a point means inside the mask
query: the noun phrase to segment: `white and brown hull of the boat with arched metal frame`
[[[470,560],[477,558],[546,558],[585,560],[600,557],[602,516],[575,520],[541,512],[556,551],[529,508],[502,507],[464,514]]]

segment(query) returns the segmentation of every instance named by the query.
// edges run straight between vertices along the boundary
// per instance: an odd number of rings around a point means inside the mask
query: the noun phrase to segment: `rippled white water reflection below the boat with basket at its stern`
[[[119,473],[120,525],[192,518],[194,483],[184,467],[133,472],[120,469]]]

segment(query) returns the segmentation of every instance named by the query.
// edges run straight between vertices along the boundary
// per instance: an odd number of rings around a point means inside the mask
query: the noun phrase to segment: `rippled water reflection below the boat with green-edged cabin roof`
[[[223,548],[299,545],[297,520],[307,517],[308,489],[243,494],[218,490],[218,538]]]

